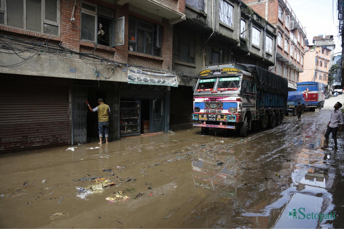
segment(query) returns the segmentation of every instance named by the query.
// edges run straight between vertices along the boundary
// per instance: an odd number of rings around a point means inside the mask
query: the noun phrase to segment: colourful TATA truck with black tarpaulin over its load
[[[255,65],[229,62],[207,65],[193,94],[194,127],[234,130],[240,137],[257,124],[279,125],[286,112],[288,81]]]

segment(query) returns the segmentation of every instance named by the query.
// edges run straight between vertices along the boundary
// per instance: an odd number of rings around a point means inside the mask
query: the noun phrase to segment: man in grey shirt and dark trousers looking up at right
[[[342,127],[344,124],[343,114],[339,110],[339,108],[341,108],[341,107],[342,107],[342,104],[340,102],[337,102],[336,104],[334,104],[334,111],[331,111],[330,122],[329,122],[329,124],[327,124],[327,130],[325,133],[324,148],[329,147],[329,136],[330,136],[330,133],[332,133],[332,138],[334,141],[333,149],[338,149],[338,147],[337,147],[337,131],[338,131],[338,129],[339,129],[339,131],[342,131]]]

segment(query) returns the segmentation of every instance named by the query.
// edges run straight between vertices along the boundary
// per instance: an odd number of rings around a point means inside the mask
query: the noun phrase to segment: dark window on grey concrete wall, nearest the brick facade
[[[195,44],[194,38],[176,35],[174,37],[174,57],[176,60],[195,63]]]

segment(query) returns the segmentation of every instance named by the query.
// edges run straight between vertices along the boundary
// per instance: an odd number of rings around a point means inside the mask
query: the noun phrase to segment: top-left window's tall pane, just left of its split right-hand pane
[[[26,29],[42,32],[41,0],[26,0]]]

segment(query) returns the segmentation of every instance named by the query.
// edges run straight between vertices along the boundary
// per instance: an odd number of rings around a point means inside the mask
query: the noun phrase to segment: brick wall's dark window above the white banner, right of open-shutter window
[[[160,26],[138,19],[129,19],[129,51],[161,56]]]

